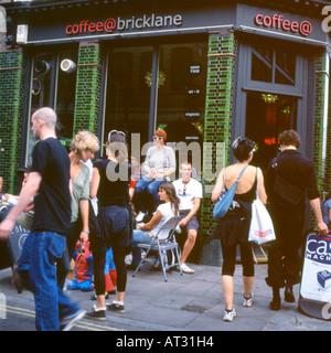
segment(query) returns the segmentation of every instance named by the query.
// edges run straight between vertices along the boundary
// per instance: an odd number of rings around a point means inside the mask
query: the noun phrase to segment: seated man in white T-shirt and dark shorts
[[[173,182],[177,195],[180,203],[180,216],[181,221],[179,225],[183,227],[188,234],[188,239],[184,244],[182,256],[180,259],[181,268],[184,274],[194,274],[194,270],[190,268],[185,261],[192,252],[195,239],[197,236],[199,222],[196,220],[196,213],[201,205],[202,199],[202,184],[192,179],[192,164],[190,162],[183,162],[180,165],[181,179]]]

